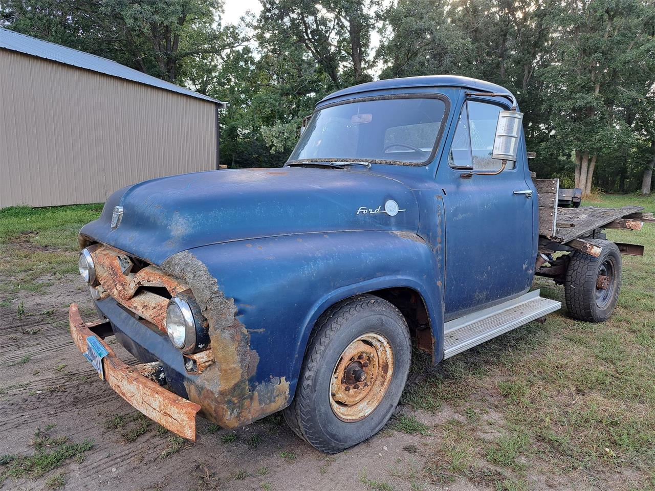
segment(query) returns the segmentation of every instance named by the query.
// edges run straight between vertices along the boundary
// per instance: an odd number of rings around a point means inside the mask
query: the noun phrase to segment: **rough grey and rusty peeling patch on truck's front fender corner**
[[[237,427],[284,409],[290,397],[286,378],[271,376],[251,386],[259,355],[250,348],[250,333],[236,318],[234,299],[225,297],[207,266],[189,251],[164,261],[166,274],[190,285],[202,315],[209,323],[215,363],[185,381],[189,399],[202,413],[223,427]]]

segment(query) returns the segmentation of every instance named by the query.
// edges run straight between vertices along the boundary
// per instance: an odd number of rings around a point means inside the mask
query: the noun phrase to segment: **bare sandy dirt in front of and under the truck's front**
[[[465,480],[447,487],[426,482],[422,467],[436,437],[384,429],[328,458],[299,441],[280,415],[236,432],[214,433],[208,432],[212,429],[206,420],[198,418],[198,441],[185,442],[164,458],[162,454],[174,445],[171,434],[157,431],[152,423],[128,441],[124,434],[142,424],[129,421],[138,413],[95,376],[69,336],[68,304],[80,304],[87,320],[95,316],[82,280],[71,276],[40,293],[0,295],[0,300],[9,298],[10,304],[0,307],[0,454],[33,454],[35,431],[47,427],[52,437],[65,436],[69,443],[90,439],[94,446],[81,463],[69,459],[37,479],[9,478],[1,489],[41,490],[48,476],[62,470],[66,490],[371,489],[364,476],[397,490],[411,489],[412,482],[417,489],[488,489]],[[20,302],[24,315],[17,313]],[[130,359],[121,346],[113,347],[123,359]],[[124,418],[128,423],[108,426],[115,416],[128,416]],[[451,417],[447,408],[436,416],[419,414],[430,425]],[[223,443],[229,433],[236,433],[236,439]],[[292,452],[295,458],[282,452]]]

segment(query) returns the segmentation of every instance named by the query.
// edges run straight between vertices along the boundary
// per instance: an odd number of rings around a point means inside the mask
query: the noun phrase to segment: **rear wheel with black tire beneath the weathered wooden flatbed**
[[[621,291],[621,253],[614,242],[598,238],[586,240],[603,250],[599,257],[581,251],[571,253],[564,295],[572,318],[604,322],[612,315]]]

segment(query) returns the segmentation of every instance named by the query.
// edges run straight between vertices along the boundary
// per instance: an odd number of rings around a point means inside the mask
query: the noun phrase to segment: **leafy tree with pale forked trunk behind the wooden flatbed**
[[[625,159],[634,143],[629,128],[635,115],[625,91],[643,94],[641,77],[629,74],[651,56],[643,49],[648,13],[636,0],[572,0],[561,17],[557,61],[547,70],[558,89],[550,107],[556,138],[574,152],[575,185],[584,194],[591,192],[599,158]]]

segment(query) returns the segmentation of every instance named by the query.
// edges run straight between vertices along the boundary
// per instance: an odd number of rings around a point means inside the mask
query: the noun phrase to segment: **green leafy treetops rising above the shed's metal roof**
[[[9,27],[181,81],[183,64],[241,43],[215,25],[219,0],[7,0]]]

